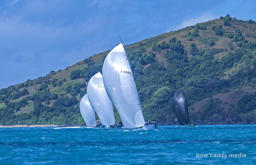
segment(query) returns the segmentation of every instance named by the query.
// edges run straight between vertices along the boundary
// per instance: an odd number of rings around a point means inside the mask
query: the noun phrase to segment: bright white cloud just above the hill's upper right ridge
[[[204,13],[200,16],[197,16],[195,18],[189,18],[185,21],[183,21],[181,24],[176,26],[176,29],[182,29],[184,27],[188,27],[191,25],[196,25],[197,23],[206,22],[209,20],[215,19],[215,16],[210,13]]]

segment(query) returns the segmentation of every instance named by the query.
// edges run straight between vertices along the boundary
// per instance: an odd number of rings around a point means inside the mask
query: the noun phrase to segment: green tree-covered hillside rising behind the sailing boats
[[[177,124],[172,96],[182,88],[191,121],[256,123],[254,21],[227,15],[124,48],[146,120]],[[109,51],[1,89],[0,125],[84,124],[79,101]]]

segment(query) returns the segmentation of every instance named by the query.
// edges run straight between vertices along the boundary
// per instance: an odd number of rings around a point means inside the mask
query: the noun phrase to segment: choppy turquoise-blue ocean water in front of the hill
[[[208,156],[199,157],[200,154]],[[217,157],[221,154],[223,157]],[[229,154],[238,154],[238,157],[229,157]],[[255,162],[256,125],[158,126],[150,131],[87,127],[0,128],[0,164]]]

